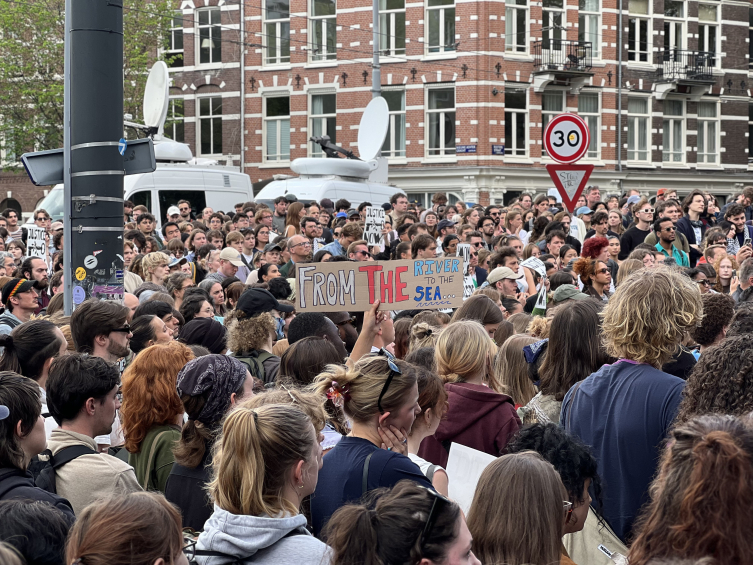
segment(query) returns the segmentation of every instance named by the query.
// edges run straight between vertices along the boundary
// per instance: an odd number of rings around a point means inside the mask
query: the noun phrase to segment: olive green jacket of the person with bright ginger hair
[[[167,477],[175,462],[173,447],[179,439],[178,426],[155,426],[147,432],[139,452],[129,453],[128,463],[136,471],[136,478],[144,490],[165,492]]]

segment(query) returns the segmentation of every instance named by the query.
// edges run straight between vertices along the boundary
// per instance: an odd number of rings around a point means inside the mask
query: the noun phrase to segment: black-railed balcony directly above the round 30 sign
[[[579,90],[593,76],[590,41],[543,39],[533,44],[534,91],[543,92],[552,83]]]

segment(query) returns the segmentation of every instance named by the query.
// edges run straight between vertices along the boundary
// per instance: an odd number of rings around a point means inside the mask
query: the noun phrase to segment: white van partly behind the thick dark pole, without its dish
[[[187,145],[163,138],[155,142],[154,153],[157,170],[128,175],[124,177],[123,184],[125,200],[130,200],[136,206],[146,206],[159,226],[167,221],[167,209],[177,205],[178,200],[188,200],[194,213],[199,216],[207,206],[233,215],[235,204],[250,202],[254,198],[248,175],[230,167],[191,165],[188,161],[193,156]],[[180,154],[183,158],[179,159]],[[62,221],[63,185],[55,185],[37,208],[47,210],[52,221]],[[32,221],[30,219],[29,223]]]

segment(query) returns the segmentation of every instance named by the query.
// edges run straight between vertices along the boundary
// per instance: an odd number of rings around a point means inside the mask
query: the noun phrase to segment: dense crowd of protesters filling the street
[[[677,196],[396,193],[376,245],[369,202],[126,202],[123,303],[71,316],[6,210],[0,565],[747,563],[753,187]],[[296,311],[297,264],[459,244],[455,310]]]

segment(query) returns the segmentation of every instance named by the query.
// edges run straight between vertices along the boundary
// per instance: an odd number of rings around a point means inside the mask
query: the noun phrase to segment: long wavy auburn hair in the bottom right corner
[[[636,522],[630,565],[704,557],[750,563],[751,457],[753,432],[742,419],[706,415],[675,428]]]

